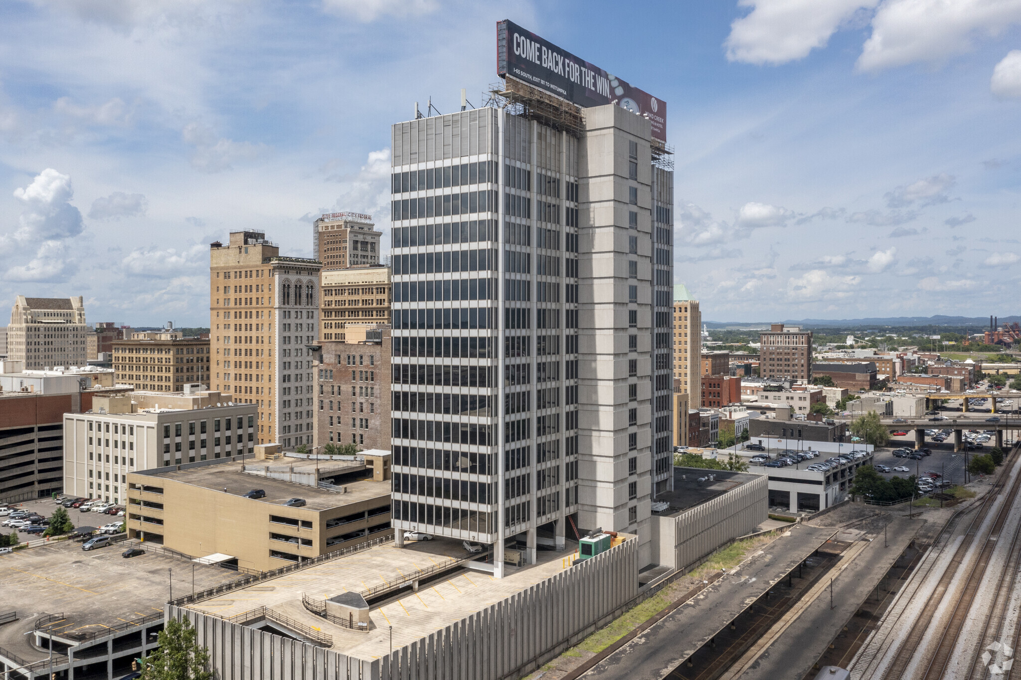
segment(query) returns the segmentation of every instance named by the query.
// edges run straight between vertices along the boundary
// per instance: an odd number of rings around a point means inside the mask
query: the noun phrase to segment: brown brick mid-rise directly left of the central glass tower
[[[389,450],[390,329],[349,328],[346,335],[347,340],[327,340],[322,345],[315,446],[357,444]],[[414,410],[426,412],[425,391],[398,394],[409,401],[405,410],[414,400]],[[282,425],[286,427],[286,421]]]

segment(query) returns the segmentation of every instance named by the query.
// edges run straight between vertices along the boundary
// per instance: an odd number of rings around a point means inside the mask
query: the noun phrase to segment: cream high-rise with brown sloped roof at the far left
[[[85,366],[89,331],[81,295],[18,295],[7,327],[7,358],[34,370]]]

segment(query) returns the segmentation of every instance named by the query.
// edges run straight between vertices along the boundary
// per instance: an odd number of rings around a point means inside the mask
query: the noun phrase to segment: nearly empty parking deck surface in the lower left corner
[[[54,630],[74,637],[162,612],[171,594],[167,569],[174,570],[174,592],[191,592],[190,560],[146,545],[140,546],[149,548],[146,554],[121,557],[129,546],[139,543],[123,541],[86,551],[81,543],[62,541],[0,555],[0,610],[18,617],[0,626],[0,646],[30,662],[46,659],[47,651],[32,646],[32,636],[25,635],[43,614],[62,613],[64,621]],[[238,578],[222,567],[194,568],[196,590]]]

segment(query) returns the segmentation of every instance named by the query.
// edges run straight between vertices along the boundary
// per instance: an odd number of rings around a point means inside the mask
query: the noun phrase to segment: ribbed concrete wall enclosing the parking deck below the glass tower
[[[519,678],[619,616],[638,596],[638,540],[443,629],[366,661],[167,605],[191,621],[220,680],[502,680]]]

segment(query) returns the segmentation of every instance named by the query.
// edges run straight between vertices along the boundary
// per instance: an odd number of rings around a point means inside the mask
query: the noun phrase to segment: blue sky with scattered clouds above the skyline
[[[390,124],[480,105],[501,18],[668,102],[704,319],[1017,311],[1021,0],[8,0],[0,307],[207,325],[229,231],[388,231]]]

